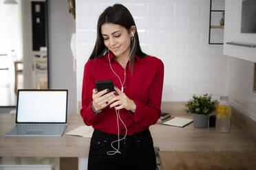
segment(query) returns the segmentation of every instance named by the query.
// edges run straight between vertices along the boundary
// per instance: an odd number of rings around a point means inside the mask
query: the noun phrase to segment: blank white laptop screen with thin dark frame
[[[16,123],[67,123],[67,90],[19,90]]]

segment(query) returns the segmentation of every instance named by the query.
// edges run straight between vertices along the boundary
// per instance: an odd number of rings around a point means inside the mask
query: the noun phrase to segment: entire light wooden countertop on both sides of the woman
[[[178,115],[189,117],[192,115]],[[15,114],[0,114],[1,156],[56,156],[87,157],[89,138],[63,135],[62,137],[5,137],[14,126]],[[68,114],[66,132],[83,124],[80,114]],[[222,134],[215,128],[198,129],[193,123],[186,127],[152,125],[155,147],[160,151],[256,151],[256,143],[242,130],[232,125],[231,132]]]

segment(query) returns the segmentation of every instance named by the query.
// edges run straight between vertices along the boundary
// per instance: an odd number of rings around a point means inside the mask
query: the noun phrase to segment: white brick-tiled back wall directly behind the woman
[[[76,1],[77,97],[83,66],[96,40],[98,16],[116,1]],[[208,45],[210,1],[122,0],[134,16],[142,49],[164,62],[163,101],[186,101],[193,93],[225,94],[227,58],[222,45]]]

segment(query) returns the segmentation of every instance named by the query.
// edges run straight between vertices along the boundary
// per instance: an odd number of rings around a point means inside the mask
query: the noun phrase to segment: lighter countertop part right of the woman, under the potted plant
[[[193,119],[192,114],[178,115]],[[153,125],[150,127],[153,142],[160,151],[256,151],[256,143],[236,125],[231,132],[216,132],[215,128],[195,128]]]

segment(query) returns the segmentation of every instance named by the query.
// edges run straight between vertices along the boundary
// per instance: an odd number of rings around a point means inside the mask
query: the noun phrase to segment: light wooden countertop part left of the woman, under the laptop
[[[62,137],[5,137],[15,124],[16,114],[0,114],[1,156],[87,157],[90,138],[63,135]],[[65,132],[83,124],[80,114],[68,114]]]

